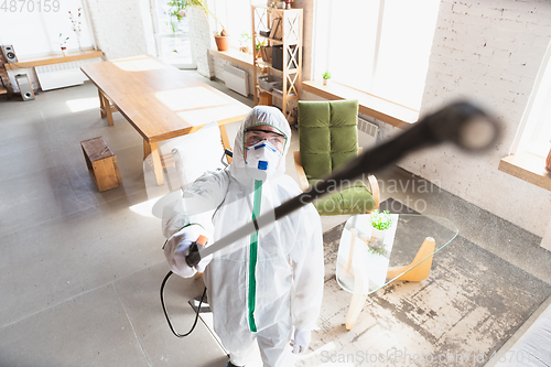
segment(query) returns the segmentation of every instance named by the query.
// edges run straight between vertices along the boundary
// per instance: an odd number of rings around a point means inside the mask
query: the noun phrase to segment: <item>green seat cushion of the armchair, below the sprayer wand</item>
[[[310,184],[317,180],[310,180]],[[375,199],[361,181],[353,182],[349,187],[327,194],[314,201],[320,215],[354,215],[375,209]]]

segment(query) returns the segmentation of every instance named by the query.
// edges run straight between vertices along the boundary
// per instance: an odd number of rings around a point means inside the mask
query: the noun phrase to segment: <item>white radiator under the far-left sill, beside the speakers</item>
[[[82,62],[69,62],[36,66],[34,69],[42,90],[50,90],[83,84],[87,80],[86,75],[80,72],[82,64]]]

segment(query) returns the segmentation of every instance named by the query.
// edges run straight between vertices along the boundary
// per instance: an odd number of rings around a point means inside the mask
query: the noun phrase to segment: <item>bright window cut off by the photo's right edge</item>
[[[511,149],[548,156],[551,149],[551,42],[540,66]]]

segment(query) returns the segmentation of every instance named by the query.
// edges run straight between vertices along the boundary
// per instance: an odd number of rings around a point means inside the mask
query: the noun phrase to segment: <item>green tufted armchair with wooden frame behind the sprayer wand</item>
[[[294,165],[301,188],[328,175],[334,169],[354,159],[358,150],[358,101],[299,101],[299,144]],[[314,202],[320,215],[370,213],[379,207],[377,179],[350,182],[342,191]]]

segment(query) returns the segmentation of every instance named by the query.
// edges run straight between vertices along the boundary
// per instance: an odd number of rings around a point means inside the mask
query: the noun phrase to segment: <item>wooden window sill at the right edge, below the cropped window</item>
[[[551,172],[545,170],[545,159],[529,152],[507,155],[499,162],[499,171],[551,191]]]

